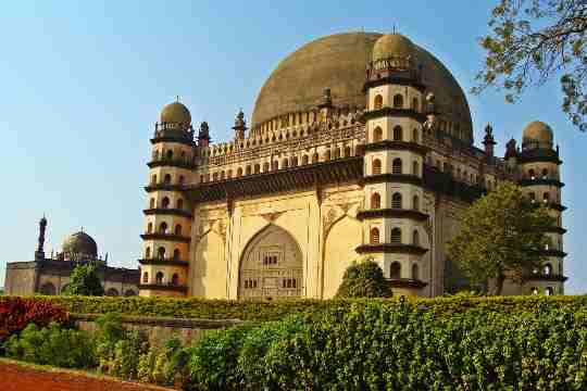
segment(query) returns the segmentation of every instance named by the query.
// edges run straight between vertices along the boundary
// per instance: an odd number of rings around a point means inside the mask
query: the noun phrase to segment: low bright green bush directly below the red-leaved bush
[[[51,323],[37,328],[30,323],[12,336],[4,349],[9,357],[63,368],[89,368],[96,364],[91,337],[85,331],[62,329]]]

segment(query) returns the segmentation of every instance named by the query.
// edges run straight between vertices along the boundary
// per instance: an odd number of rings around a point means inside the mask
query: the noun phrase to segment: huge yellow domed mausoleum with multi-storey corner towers
[[[348,33],[283,60],[251,125],[211,143],[182,103],[151,139],[141,295],[332,298],[345,269],[375,260],[396,293],[435,297],[458,275],[446,243],[459,216],[499,181],[523,186],[557,225],[542,270],[505,293],[564,292],[559,149],[532,122],[522,148],[483,148],[462,88],[432,53],[399,34]],[[521,129],[522,130],[522,129]]]

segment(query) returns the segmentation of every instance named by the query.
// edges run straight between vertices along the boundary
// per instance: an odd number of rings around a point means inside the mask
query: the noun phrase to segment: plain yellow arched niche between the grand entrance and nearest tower
[[[344,216],[327,234],[324,245],[323,299],[333,298],[338,291],[342,276],[359,254],[354,249],[361,244],[361,223]]]

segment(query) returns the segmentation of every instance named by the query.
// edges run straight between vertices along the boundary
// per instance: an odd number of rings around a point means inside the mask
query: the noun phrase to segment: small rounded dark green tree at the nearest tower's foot
[[[372,260],[354,261],[338,287],[337,298],[389,298],[391,289],[383,270]]]

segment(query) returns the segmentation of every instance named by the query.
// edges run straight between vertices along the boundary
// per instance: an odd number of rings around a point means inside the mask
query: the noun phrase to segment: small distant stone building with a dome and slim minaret
[[[8,263],[5,294],[61,294],[75,266],[84,263],[97,266],[107,295],[138,294],[139,270],[108,266],[108,254],[100,257],[96,241],[83,230],[65,238],[61,252],[46,256],[46,229],[47,219],[43,217],[39,223],[35,261]]]

